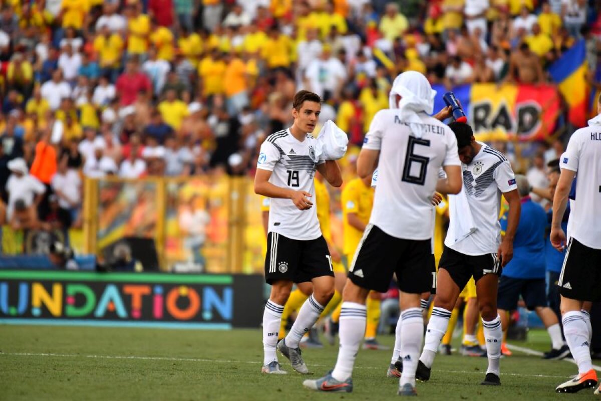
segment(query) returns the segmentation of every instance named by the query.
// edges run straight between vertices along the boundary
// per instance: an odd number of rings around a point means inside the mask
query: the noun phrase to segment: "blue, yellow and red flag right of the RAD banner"
[[[587,49],[584,40],[577,41],[549,67],[549,74],[566,99],[568,120],[576,127],[587,123]]]

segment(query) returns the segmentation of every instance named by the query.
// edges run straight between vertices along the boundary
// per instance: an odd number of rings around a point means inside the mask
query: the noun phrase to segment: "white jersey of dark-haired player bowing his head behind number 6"
[[[449,237],[449,232],[445,238],[445,245],[449,248],[471,256],[498,251],[501,245],[501,194],[517,189],[516,177],[507,158],[489,145],[478,143],[482,147],[474,160],[469,165],[462,163],[462,191],[468,199],[477,230],[457,242]],[[455,219],[462,219],[461,215],[454,215],[453,208],[449,212],[450,224],[454,224]]]

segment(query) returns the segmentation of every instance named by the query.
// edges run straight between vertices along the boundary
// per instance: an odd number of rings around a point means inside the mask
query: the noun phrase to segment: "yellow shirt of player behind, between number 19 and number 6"
[[[344,231],[343,252],[349,255],[355,253],[363,236],[363,231],[359,231],[349,224],[349,213],[355,213],[359,220],[367,224],[370,221],[371,207],[374,203],[374,189],[366,186],[360,178],[353,179],[344,186],[341,202]]]

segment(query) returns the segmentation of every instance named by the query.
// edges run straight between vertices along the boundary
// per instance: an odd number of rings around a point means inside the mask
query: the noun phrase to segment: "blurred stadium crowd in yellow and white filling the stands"
[[[406,70],[449,88],[546,82],[546,67],[583,37],[593,82],[589,3],[4,1],[0,223],[80,227],[84,177],[252,174],[301,88],[359,147]],[[544,164],[535,159],[535,186],[546,185]]]

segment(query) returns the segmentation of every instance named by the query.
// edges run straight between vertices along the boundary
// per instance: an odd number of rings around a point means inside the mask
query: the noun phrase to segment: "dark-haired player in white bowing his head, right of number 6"
[[[449,124],[457,136],[462,162],[462,194],[449,197],[450,228],[438,263],[432,316],[416,377],[427,381],[436,350],[447,331],[451,311],[471,277],[476,283],[489,366],[481,384],[500,385],[499,358],[503,332],[496,311],[499,275],[513,256],[513,237],[520,216],[520,198],[511,164],[502,153],[477,142],[468,124]],[[507,230],[501,240],[501,194],[509,204]]]

